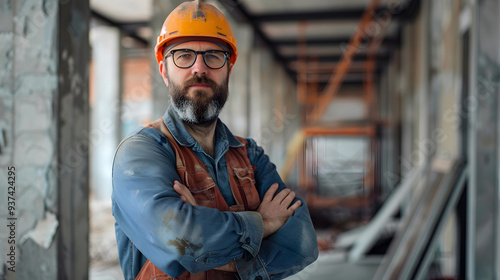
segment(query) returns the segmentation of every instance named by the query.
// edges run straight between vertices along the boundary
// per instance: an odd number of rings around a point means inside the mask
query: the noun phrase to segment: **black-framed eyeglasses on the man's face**
[[[220,69],[226,64],[229,52],[220,50],[194,51],[190,49],[178,49],[169,52],[175,66],[179,68],[189,68],[196,62],[198,54],[203,56],[205,65],[210,69]]]

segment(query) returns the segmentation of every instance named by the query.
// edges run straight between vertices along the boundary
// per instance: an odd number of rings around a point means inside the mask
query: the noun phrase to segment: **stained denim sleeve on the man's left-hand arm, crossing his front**
[[[244,253],[257,255],[263,234],[260,214],[184,203],[173,190],[174,180],[179,180],[175,155],[153,128],[143,128],[118,147],[113,163],[113,215],[120,231],[147,259],[177,277],[185,270],[196,273],[220,267]],[[123,269],[128,264],[121,265]],[[138,272],[123,270],[129,274],[126,279]]]

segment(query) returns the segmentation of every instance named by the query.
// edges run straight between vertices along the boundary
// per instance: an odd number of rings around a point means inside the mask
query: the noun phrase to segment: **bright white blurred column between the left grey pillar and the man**
[[[111,201],[111,162],[121,138],[120,30],[97,26],[90,35],[94,65],[90,187],[96,199]]]

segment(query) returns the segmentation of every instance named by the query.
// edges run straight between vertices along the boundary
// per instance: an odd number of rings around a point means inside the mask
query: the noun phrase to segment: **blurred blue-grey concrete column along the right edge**
[[[472,8],[467,184],[468,279],[500,277],[500,3]]]

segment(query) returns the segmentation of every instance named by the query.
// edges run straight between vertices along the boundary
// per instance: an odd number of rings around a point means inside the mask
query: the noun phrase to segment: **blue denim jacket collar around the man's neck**
[[[186,130],[184,123],[179,118],[179,114],[177,114],[172,105],[165,112],[163,122],[179,145],[190,147],[193,150],[202,150],[198,142]],[[225,150],[228,146],[231,148],[243,146],[220,119],[217,119],[217,124],[215,125],[215,145],[216,151],[220,149]]]

